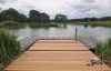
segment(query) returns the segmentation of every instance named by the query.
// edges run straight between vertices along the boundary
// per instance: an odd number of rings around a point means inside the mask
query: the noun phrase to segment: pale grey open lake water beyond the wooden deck
[[[75,27],[78,28],[78,33],[81,37],[92,37],[98,40],[105,40],[111,37],[111,28],[105,27],[84,27],[77,24],[67,24],[59,28],[20,28],[11,29],[10,32],[18,37],[18,40],[28,38],[28,37],[73,37],[75,32]]]

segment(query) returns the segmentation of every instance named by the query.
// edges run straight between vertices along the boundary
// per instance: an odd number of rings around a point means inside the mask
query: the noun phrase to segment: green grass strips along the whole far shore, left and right
[[[64,24],[64,23],[12,22],[12,21],[6,21],[6,22],[1,22],[0,27],[4,27],[4,28],[8,28],[8,29],[20,29],[20,28],[24,28],[26,24],[31,27],[31,28],[50,28],[50,27],[59,27],[59,24]],[[70,22],[68,24],[70,24]],[[91,26],[91,27],[109,27],[109,28],[111,28],[111,21],[73,22],[73,24],[84,24],[85,27],[87,26]]]

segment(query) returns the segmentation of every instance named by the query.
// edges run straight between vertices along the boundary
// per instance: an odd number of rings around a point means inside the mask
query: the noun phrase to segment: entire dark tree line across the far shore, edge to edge
[[[16,22],[90,22],[90,21],[111,21],[111,17],[103,18],[82,18],[82,19],[68,19],[65,14],[57,14],[53,20],[47,13],[41,13],[37,10],[30,10],[28,17],[18,12],[13,8],[2,10],[0,12],[0,22],[2,21],[16,21]]]

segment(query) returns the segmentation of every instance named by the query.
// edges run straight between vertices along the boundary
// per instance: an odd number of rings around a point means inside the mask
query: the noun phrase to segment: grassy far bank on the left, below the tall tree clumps
[[[59,24],[49,22],[49,23],[42,23],[42,22],[12,22],[12,21],[6,21],[0,22],[0,27],[8,28],[8,29],[19,29],[24,28],[26,26],[29,26],[30,28],[50,28],[50,27],[59,27]]]

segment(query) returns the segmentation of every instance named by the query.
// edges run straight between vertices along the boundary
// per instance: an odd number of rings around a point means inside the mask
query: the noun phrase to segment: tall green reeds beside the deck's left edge
[[[20,54],[20,44],[17,38],[7,30],[0,29],[0,64],[7,64]]]

